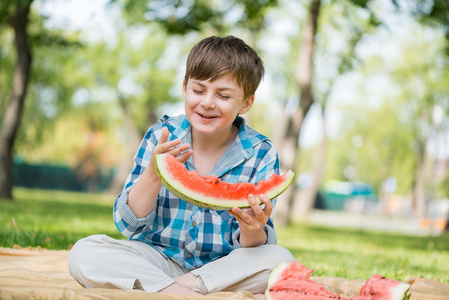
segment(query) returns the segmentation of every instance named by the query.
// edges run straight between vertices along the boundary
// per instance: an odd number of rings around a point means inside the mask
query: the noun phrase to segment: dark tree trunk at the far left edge
[[[17,64],[11,98],[0,130],[0,198],[12,200],[12,150],[22,117],[31,69],[31,50],[28,44],[28,14],[32,1],[20,6],[8,20],[14,29]]]

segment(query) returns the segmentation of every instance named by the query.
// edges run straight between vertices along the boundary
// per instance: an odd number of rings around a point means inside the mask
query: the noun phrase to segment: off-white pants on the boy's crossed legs
[[[294,260],[277,245],[239,248],[191,271],[197,276],[194,290],[209,294],[246,290],[263,293],[271,271],[281,262]],[[106,235],[79,240],[68,258],[70,274],[87,288],[143,289],[157,292],[188,273],[152,246]]]

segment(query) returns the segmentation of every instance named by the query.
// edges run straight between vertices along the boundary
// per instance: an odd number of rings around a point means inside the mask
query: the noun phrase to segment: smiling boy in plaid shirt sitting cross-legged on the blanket
[[[85,287],[209,294],[247,290],[257,297],[280,262],[293,260],[276,245],[273,204],[252,195],[251,208],[207,210],[169,193],[154,156],[169,153],[201,176],[252,182],[279,172],[272,143],[245,125],[264,73],[242,40],[209,37],[195,45],[183,82],[185,115],[167,117],[145,135],[114,205],[114,222],[128,240],[94,235],[69,255],[72,276]],[[258,294],[258,295],[257,295]]]

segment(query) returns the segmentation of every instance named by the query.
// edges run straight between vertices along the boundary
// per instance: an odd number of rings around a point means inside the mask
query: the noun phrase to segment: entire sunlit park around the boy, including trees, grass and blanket
[[[228,35],[265,67],[242,117],[295,172],[278,245],[338,294],[380,274],[449,299],[447,0],[0,1],[0,299],[197,299],[89,292],[67,256],[125,239],[142,138],[184,113],[190,49]],[[201,299],[258,299],[227,293]]]

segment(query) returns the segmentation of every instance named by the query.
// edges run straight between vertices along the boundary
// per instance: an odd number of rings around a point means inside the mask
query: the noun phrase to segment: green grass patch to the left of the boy
[[[60,250],[94,233],[121,237],[112,220],[114,196],[18,188],[14,198],[0,200],[2,247]]]

